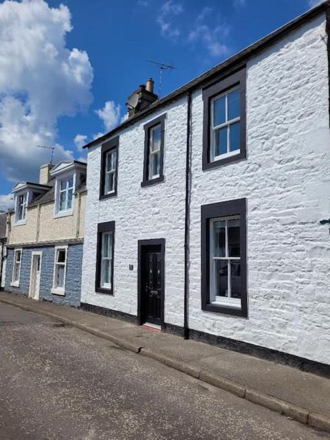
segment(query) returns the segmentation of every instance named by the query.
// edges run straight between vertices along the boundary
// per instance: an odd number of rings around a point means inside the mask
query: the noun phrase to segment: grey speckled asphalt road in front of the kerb
[[[0,303],[1,440],[329,438],[109,341]]]

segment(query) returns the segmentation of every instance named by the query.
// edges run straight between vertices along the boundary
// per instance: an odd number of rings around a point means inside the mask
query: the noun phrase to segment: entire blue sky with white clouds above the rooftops
[[[14,181],[36,180],[50,157],[37,144],[56,146],[57,160],[81,159],[81,145],[120,123],[127,96],[149,76],[157,93],[148,60],[175,66],[164,96],[316,3],[0,2],[0,209]]]

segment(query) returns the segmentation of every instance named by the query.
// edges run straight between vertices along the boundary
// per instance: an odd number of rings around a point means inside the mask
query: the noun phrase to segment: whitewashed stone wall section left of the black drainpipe
[[[143,126],[165,112],[165,179],[142,188]],[[181,98],[120,133],[117,197],[98,199],[101,151],[89,150],[83,303],[136,315],[137,241],[162,238],[166,239],[165,321],[183,325],[186,118],[186,98]],[[97,225],[104,221],[115,221],[114,296],[94,291]]]

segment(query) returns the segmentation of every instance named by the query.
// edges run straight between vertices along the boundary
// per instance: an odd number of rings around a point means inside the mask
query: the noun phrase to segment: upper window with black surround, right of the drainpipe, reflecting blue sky
[[[204,89],[203,105],[203,169],[245,158],[245,69]]]

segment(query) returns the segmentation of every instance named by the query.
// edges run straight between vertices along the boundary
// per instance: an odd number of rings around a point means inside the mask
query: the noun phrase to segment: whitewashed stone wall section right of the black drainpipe
[[[323,40],[325,39],[325,40]],[[325,17],[247,69],[247,159],[201,170],[193,100],[190,327],[330,363],[330,134]],[[201,205],[247,199],[246,318],[201,311]]]

